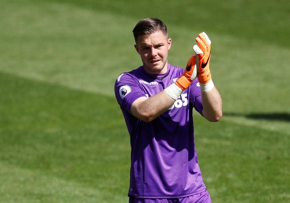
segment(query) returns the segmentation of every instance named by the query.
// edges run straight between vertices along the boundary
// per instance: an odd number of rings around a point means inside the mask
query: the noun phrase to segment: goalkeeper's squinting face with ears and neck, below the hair
[[[171,39],[161,32],[139,36],[137,45],[134,45],[140,54],[145,71],[151,74],[167,72],[168,50]],[[164,68],[165,67],[165,68]]]

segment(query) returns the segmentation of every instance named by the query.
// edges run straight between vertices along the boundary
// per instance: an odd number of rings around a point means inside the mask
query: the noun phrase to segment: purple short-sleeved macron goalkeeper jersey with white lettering
[[[197,162],[192,109],[201,113],[200,87],[194,80],[165,113],[144,122],[131,113],[139,97],[152,97],[179,78],[184,69],[168,65],[165,74],[147,73],[143,66],[121,74],[115,83],[131,142],[129,196],[181,198],[205,191]]]

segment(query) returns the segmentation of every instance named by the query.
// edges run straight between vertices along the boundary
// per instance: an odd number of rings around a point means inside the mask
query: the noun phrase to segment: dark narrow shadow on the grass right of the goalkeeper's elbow
[[[250,119],[263,119],[263,120],[278,120],[278,121],[286,121],[290,122],[290,114],[289,113],[250,113],[250,114],[242,114],[242,113],[231,113],[225,112],[223,116],[243,116]]]

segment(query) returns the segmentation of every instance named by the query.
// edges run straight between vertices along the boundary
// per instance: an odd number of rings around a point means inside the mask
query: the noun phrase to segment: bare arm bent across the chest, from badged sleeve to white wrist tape
[[[133,116],[145,122],[150,122],[165,111],[175,102],[165,90],[152,97],[140,97],[132,103]]]

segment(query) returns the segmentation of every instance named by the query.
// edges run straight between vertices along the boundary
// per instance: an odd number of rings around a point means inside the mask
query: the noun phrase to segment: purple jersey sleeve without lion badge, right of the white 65
[[[189,95],[190,95],[190,103],[195,108],[195,110],[201,114],[203,106],[201,102],[200,85],[197,79],[192,81],[192,84],[190,85],[189,88]]]

